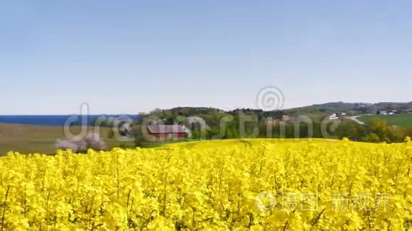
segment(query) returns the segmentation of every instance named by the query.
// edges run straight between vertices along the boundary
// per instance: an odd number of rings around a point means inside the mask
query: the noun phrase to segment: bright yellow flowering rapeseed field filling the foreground
[[[1,230],[408,230],[412,144],[223,140],[0,158]]]

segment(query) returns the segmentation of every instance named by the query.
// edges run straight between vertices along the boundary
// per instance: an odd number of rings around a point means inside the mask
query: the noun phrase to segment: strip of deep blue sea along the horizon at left
[[[94,122],[104,118],[130,118],[137,120],[137,115],[58,115],[58,116],[0,116],[0,123],[16,123],[23,125],[92,125]]]

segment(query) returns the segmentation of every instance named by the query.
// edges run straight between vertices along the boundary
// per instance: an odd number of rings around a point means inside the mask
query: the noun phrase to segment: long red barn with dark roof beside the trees
[[[185,125],[148,125],[147,128],[148,132],[158,140],[184,139],[188,137],[189,133]]]

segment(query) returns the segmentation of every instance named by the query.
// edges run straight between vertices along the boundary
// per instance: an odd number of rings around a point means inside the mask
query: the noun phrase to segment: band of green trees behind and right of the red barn
[[[291,120],[280,122],[283,111],[265,112],[261,110],[222,111],[216,108],[173,108],[170,110],[156,110],[151,114],[142,115],[145,118],[156,118],[164,124],[186,125],[191,131],[190,138],[195,140],[235,139],[243,137],[264,138],[307,138],[326,137],[366,142],[403,142],[404,137],[410,135],[408,130],[388,125],[385,120],[371,120],[368,125],[360,125],[352,120],[325,120],[329,113],[322,113],[308,108],[312,114],[295,112]],[[298,120],[304,116],[310,123]],[[207,125],[202,128],[196,123],[188,123],[184,118],[201,118]],[[290,114],[288,114],[290,116]],[[293,117],[293,116],[292,116]],[[246,119],[245,119],[246,118]],[[278,121],[268,124],[267,120]],[[324,122],[327,122],[325,125]],[[337,123],[334,125],[334,123]],[[136,123],[136,145],[147,142],[141,134],[140,123]]]

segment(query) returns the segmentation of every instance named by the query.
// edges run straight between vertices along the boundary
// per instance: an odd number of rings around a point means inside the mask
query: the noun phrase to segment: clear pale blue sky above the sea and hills
[[[0,114],[412,101],[412,1],[1,1]]]

